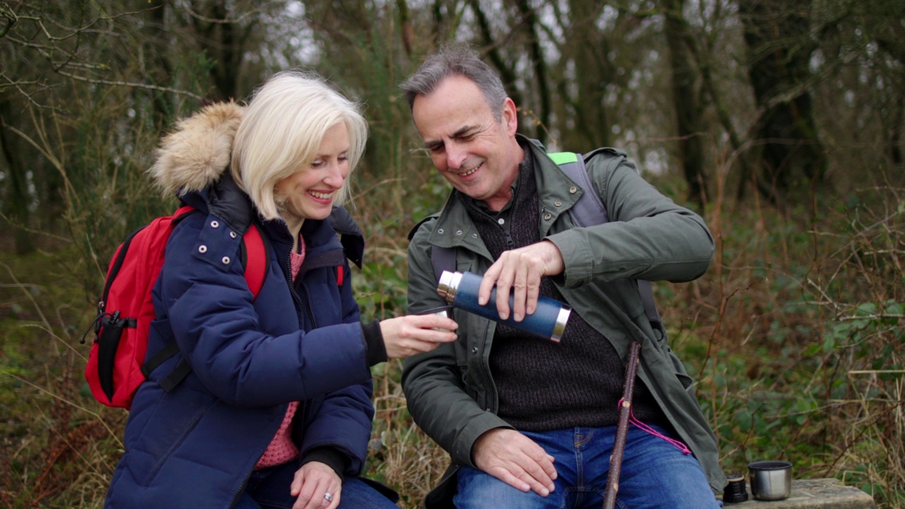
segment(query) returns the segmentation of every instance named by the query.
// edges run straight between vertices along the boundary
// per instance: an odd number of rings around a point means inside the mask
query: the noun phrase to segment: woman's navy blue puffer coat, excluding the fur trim
[[[374,408],[347,255],[360,260],[363,243],[344,252],[329,221],[305,221],[291,284],[288,228],[259,223],[268,272],[252,301],[241,263],[241,233],[256,217],[248,198],[221,169],[182,199],[199,213],[170,236],[148,343],[148,356],[171,341],[179,353],[138,389],[106,506],[231,507],[291,401],[301,457],[328,450],[358,475]],[[157,382],[182,360],[191,372],[165,391]]]

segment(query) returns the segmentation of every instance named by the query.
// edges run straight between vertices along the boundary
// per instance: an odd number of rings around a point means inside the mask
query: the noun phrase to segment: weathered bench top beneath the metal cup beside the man
[[[725,504],[725,509],[876,509],[873,497],[838,479],[793,479],[792,495],[786,500],[762,501],[751,495],[748,501]]]

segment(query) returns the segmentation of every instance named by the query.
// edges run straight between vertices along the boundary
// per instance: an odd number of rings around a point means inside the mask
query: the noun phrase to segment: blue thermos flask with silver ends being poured
[[[567,304],[555,299],[538,296],[538,308],[525,316],[521,322],[512,320],[512,316],[506,320],[500,320],[497,312],[497,289],[491,290],[491,300],[484,305],[478,304],[478,289],[481,287],[481,279],[478,274],[452,273],[443,271],[440,274],[440,285],[437,293],[451,303],[452,307],[488,318],[494,322],[505,323],[519,331],[528,332],[550,341],[559,341],[563,331],[566,331],[566,322],[572,312]],[[513,297],[510,294],[510,309]]]

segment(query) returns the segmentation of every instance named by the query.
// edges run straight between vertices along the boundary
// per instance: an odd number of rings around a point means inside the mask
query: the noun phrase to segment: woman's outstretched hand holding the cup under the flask
[[[380,322],[386,357],[402,359],[455,341],[459,324],[436,314],[410,314]]]

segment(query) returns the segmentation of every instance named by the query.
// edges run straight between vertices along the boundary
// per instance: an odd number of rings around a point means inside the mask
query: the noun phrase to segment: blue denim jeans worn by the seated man
[[[662,427],[653,426],[663,435]],[[616,427],[576,427],[522,431],[556,460],[556,489],[543,497],[524,493],[481,470],[459,469],[456,507],[494,509],[599,508]],[[621,509],[710,509],[722,504],[713,495],[698,460],[659,437],[629,426],[616,507]]]

